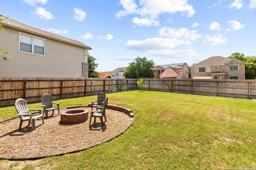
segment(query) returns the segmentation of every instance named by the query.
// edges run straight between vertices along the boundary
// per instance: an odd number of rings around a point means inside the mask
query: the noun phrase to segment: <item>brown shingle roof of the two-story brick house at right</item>
[[[232,59],[230,58],[226,58],[226,57],[221,57],[221,56],[213,56],[210,58],[207,58],[206,60],[197,63],[195,65],[193,65],[193,67],[196,66],[209,66],[209,65],[224,65],[225,63],[231,61]],[[239,61],[239,60],[238,60]],[[244,63],[242,61],[240,61],[241,63]]]

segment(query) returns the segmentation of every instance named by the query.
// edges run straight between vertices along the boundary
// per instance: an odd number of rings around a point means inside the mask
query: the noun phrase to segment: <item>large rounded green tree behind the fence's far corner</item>
[[[154,78],[154,71],[151,70],[154,65],[153,60],[147,60],[146,57],[137,57],[134,62],[129,63],[124,76],[128,79]]]

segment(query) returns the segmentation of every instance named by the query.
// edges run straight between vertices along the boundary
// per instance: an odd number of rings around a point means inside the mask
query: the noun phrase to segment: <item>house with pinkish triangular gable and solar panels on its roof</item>
[[[161,79],[188,79],[188,64],[166,64],[154,66],[151,70],[155,73],[155,78]]]

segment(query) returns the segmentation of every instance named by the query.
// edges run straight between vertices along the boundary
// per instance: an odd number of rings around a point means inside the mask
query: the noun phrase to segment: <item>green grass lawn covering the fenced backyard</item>
[[[107,96],[109,104],[133,110],[135,121],[129,130],[77,154],[28,162],[25,169],[220,169],[256,165],[253,100],[154,91]],[[58,102],[67,107],[94,99],[96,96]],[[14,116],[14,107],[0,108],[0,120]],[[2,160],[1,164],[15,167],[23,163]]]

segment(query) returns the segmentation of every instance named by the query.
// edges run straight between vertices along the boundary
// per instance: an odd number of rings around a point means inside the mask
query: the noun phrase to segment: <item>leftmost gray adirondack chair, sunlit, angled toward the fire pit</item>
[[[19,130],[21,130],[22,123],[25,121],[28,121],[28,125],[30,125],[30,123],[31,123],[33,130],[36,129],[35,120],[42,118],[42,122],[44,124],[42,109],[28,109],[28,103],[26,100],[21,99],[21,98],[17,99],[15,101],[15,109],[18,112],[18,115],[20,117]],[[36,112],[38,114],[35,114],[35,113],[31,114],[31,113],[29,113],[29,111],[38,111],[38,112]]]

